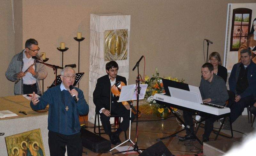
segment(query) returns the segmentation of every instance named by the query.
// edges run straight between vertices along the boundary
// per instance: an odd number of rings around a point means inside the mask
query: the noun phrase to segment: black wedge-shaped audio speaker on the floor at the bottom
[[[174,156],[168,148],[164,145],[162,141],[157,142],[156,144],[148,147],[140,156]]]

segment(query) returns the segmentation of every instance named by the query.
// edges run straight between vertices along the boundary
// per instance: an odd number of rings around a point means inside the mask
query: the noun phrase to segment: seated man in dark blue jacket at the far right
[[[236,63],[228,79],[230,91],[236,94],[231,107],[230,122],[233,123],[256,99],[256,64],[252,62],[250,49],[241,50],[241,62]]]

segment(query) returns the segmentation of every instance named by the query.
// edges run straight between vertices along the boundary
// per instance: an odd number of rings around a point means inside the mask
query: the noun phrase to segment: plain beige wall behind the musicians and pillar
[[[89,88],[89,50],[90,50],[90,13],[120,12],[131,15],[130,33],[130,74],[129,83],[134,84],[137,71],[133,66],[140,56],[146,58],[146,75],[155,72],[160,76],[184,78],[190,85],[199,85],[201,65],[204,63],[203,39],[213,41],[209,52],[218,51],[224,56],[224,39],[226,31],[228,3],[240,3],[240,0],[23,0],[17,14],[15,34],[16,47],[24,48],[28,38],[39,42],[40,52],[46,52],[50,60],[46,63],[61,66],[61,52],[56,48],[65,42],[68,51],[64,52],[64,64],[78,63],[78,42],[76,32],[82,32],[85,40],[80,47],[80,71],[85,72],[80,81],[80,89],[88,99]],[[255,0],[244,0],[243,3],[255,3]],[[10,1],[0,6],[1,22],[0,42],[4,59],[1,71],[6,70],[11,56],[17,53],[12,47],[14,34],[12,31],[12,15]],[[16,7],[15,6],[15,7]],[[15,10],[15,11],[16,11]],[[20,17],[19,17],[20,16]],[[16,19],[15,19],[16,21]],[[20,25],[18,25],[20,24]],[[17,32],[20,29],[22,32]],[[11,37],[10,37],[11,36]],[[8,41],[7,41],[7,40]],[[22,43],[20,43],[22,42]],[[6,56],[8,49],[8,54]],[[21,49],[20,49],[21,50]],[[205,44],[206,52],[206,44]],[[143,61],[140,63],[140,74],[143,74]],[[48,68],[48,76],[44,80],[44,90],[54,80],[53,70]],[[76,71],[78,71],[76,69]],[[60,74],[60,71],[58,71]],[[0,96],[13,95],[13,83],[2,74],[7,93]]]

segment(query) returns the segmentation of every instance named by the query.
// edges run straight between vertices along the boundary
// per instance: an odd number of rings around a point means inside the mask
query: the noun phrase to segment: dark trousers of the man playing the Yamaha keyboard
[[[195,113],[193,111],[187,111],[183,110],[183,117],[184,117],[184,122],[187,125],[186,127],[186,133],[187,134],[195,134],[194,131],[194,122],[192,115]],[[218,116],[216,115],[210,115],[210,114],[203,114],[205,117],[205,125],[204,125],[204,134],[203,137],[206,139],[209,139],[209,136],[213,130],[213,123],[219,119]]]

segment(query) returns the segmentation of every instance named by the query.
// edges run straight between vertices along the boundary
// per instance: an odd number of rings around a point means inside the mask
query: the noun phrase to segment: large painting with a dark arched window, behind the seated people
[[[229,3],[226,23],[225,53],[222,65],[231,72],[233,65],[240,62],[240,52],[251,50],[256,63],[256,3]],[[255,22],[255,23],[254,23]],[[228,74],[229,75],[229,74]]]

